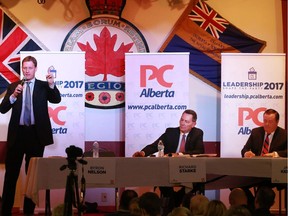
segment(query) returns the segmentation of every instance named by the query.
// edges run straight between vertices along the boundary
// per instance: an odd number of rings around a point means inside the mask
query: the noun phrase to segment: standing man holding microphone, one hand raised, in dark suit
[[[5,179],[2,194],[2,215],[12,215],[16,183],[25,155],[25,172],[32,157],[42,157],[46,145],[53,144],[48,101],[59,103],[61,95],[48,73],[47,81],[35,78],[37,60],[27,56],[22,60],[23,81],[11,83],[0,104],[0,112],[12,109],[8,126]],[[35,204],[24,198],[24,215],[33,215]]]

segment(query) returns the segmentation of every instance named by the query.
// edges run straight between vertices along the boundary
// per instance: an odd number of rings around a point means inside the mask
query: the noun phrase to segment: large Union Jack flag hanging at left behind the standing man
[[[20,78],[20,51],[45,50],[0,7],[0,98]]]

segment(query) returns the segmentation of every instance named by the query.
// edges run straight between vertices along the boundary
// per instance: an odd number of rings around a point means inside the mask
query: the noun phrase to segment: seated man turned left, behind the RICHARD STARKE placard
[[[164,144],[164,154],[173,156],[175,154],[203,154],[203,131],[196,128],[197,114],[193,110],[185,110],[180,118],[179,127],[167,128],[155,142],[135,152],[133,157],[150,156],[158,151],[158,142]],[[185,140],[184,140],[185,139]],[[183,145],[181,145],[183,143]],[[195,188],[194,188],[195,189]],[[174,192],[172,187],[160,187],[163,197],[169,198],[171,208],[178,207],[185,195],[185,188]]]

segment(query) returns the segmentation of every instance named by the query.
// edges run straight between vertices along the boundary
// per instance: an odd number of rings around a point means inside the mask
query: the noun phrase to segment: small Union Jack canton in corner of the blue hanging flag
[[[201,1],[194,7],[188,17],[215,38],[219,38],[219,33],[223,33],[226,26],[229,25],[226,19]]]

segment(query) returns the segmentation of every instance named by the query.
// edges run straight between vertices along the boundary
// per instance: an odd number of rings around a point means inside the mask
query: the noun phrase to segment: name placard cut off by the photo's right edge
[[[288,165],[287,160],[273,158],[272,160],[272,183],[287,183]]]

